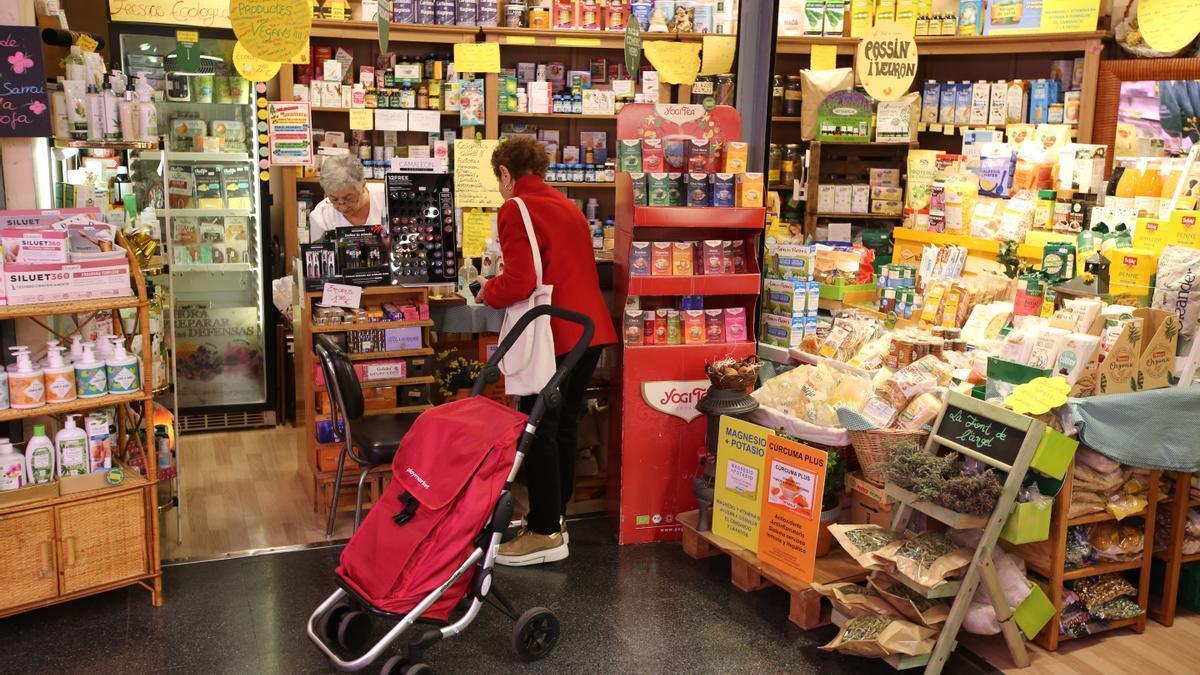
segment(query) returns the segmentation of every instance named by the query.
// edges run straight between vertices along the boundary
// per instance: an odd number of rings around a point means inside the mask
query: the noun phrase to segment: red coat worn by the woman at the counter
[[[592,233],[583,213],[562,192],[546,185],[538,175],[523,175],[514,186],[529,209],[538,246],[541,249],[542,282],[554,287],[551,301],[554,306],[577,311],[592,318],[595,333],[592,345],[612,345],[617,333],[612,317],[600,294],[595,255],[592,251]],[[500,235],[500,252],[504,255],[504,271],[484,286],[484,301],[503,309],[533,293],[536,276],[533,269],[533,249],[526,234],[521,209],[511,201],[500,207],[497,219]],[[566,321],[552,319],[554,331],[554,356],[571,351],[582,329]]]

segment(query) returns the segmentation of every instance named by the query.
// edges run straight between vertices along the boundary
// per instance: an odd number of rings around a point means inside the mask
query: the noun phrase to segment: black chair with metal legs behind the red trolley
[[[401,438],[416,420],[415,413],[380,414],[364,417],[362,386],[354,372],[354,364],[346,352],[329,339],[328,335],[316,336],[317,358],[325,372],[325,390],[329,393],[330,414],[334,436],[346,443],[337,458],[337,477],[334,479],[334,496],[329,504],[329,522],[325,525],[325,537],[334,536],[334,521],[337,518],[337,496],[342,488],[342,473],[346,458],[358,462],[362,472],[359,476],[359,490],[354,501],[354,530],[362,520],[362,485],[372,468],[391,464]],[[338,425],[341,422],[341,425]],[[350,430],[350,423],[354,430]]]

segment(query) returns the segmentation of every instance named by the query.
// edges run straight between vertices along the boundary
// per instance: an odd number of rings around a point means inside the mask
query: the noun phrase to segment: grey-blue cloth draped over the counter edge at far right
[[[1079,440],[1121,464],[1200,471],[1200,387],[1068,401]]]

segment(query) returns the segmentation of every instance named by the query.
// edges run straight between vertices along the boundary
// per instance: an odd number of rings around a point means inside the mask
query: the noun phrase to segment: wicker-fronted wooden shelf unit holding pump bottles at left
[[[78,331],[95,315],[110,312],[114,329],[122,330],[121,310],[136,310],[137,333],[150,350],[150,313],[146,285],[137,261],[127,252],[134,295],[98,300],[72,300],[0,307],[0,319],[70,316]],[[128,345],[127,345],[128,346]],[[116,408],[114,466],[124,480],[106,485],[98,473],[67,477],[0,495],[0,616],[70,602],[77,598],[138,585],[150,591],[150,602],[161,607],[162,566],[158,555],[158,491],[154,449],[154,392],[150,359],[142,364],[142,389],[133,394],[77,399],[30,410],[0,411],[0,422],[54,417],[113,406]],[[139,430],[145,425],[144,436]],[[52,434],[53,435],[53,434]],[[144,460],[145,476],[131,467],[133,454]]]

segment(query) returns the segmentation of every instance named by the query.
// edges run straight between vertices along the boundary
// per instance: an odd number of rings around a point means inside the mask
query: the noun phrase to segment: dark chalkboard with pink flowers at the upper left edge
[[[0,25],[0,137],[50,135],[40,29]]]

